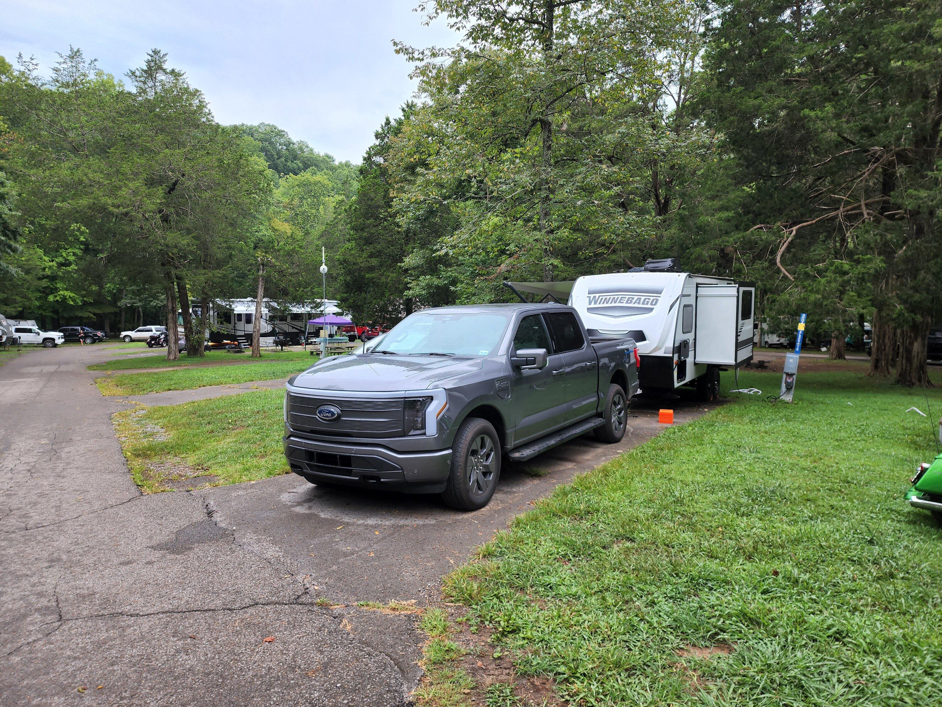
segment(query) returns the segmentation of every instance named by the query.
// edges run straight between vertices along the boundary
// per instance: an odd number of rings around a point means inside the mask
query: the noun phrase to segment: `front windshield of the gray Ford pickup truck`
[[[495,353],[509,321],[510,313],[417,312],[400,321],[374,351],[489,356]]]

